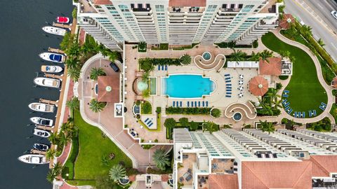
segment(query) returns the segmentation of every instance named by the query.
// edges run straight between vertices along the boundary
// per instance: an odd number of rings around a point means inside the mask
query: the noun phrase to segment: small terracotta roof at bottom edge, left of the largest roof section
[[[238,189],[237,174],[210,174],[209,188],[211,189]]]

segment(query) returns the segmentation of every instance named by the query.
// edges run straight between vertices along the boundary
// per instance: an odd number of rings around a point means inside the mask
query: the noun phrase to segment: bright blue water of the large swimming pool
[[[200,75],[171,75],[161,81],[161,93],[171,98],[201,98],[211,94],[215,88],[212,80]]]

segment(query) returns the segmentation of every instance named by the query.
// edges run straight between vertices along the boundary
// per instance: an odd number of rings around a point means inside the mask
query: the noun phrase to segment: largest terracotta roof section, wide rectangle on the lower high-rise
[[[242,162],[242,189],[312,188],[311,162]]]

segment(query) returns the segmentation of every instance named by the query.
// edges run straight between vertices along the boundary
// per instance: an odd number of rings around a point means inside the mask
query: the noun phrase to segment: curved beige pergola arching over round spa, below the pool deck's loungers
[[[234,113],[236,113],[237,111],[240,111],[240,112],[243,111],[246,117],[251,120],[255,119],[257,116],[256,109],[253,106],[253,104],[251,104],[251,102],[247,102],[247,104],[237,103],[237,102],[230,104],[225,109],[225,116],[227,118],[232,118],[234,116]]]

